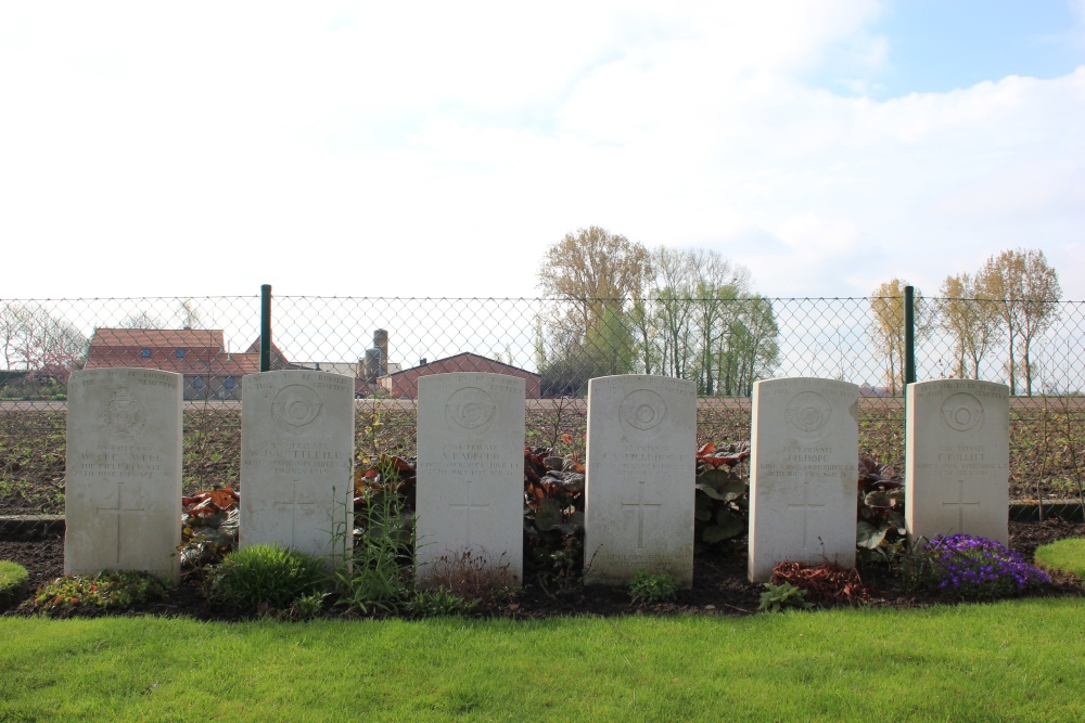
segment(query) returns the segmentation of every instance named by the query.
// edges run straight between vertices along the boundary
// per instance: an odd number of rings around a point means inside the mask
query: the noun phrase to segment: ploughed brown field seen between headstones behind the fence
[[[899,398],[860,400],[859,455],[904,472]],[[44,405],[50,409],[44,409]],[[1082,398],[1014,398],[1010,415],[1010,499],[1078,498],[1085,480]],[[413,454],[416,408],[409,400],[359,401],[355,450],[360,461],[381,452]],[[698,446],[750,439],[749,399],[698,402]],[[376,421],[380,424],[375,424]],[[0,403],[0,514],[63,514],[66,412],[63,402]],[[587,405],[583,399],[532,400],[527,442],[559,447],[584,460]],[[187,404],[184,493],[240,489],[241,414],[234,402]]]

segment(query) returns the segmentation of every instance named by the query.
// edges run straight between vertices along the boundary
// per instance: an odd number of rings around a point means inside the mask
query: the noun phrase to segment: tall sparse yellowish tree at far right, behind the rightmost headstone
[[[1032,396],[1032,346],[1059,315],[1059,274],[1039,249],[1009,249],[994,255],[976,274],[976,288],[995,308],[1006,330],[1010,393],[1017,393],[1016,352],[1022,354],[1025,393]]]

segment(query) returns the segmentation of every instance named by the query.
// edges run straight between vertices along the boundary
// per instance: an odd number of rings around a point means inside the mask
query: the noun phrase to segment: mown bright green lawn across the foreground
[[[0,720],[1081,721],[1085,603],[749,618],[0,620]]]

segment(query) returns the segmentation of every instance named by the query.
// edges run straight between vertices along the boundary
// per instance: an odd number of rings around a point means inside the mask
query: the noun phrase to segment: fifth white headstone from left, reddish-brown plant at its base
[[[753,386],[752,582],[779,563],[855,567],[859,388],[817,378]]]

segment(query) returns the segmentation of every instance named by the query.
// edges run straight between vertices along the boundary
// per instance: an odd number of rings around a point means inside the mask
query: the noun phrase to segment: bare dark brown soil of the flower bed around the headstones
[[[1063,538],[1085,537],[1085,522],[1047,520],[1044,522],[1010,522],[1010,547],[1032,561],[1037,545]],[[27,568],[34,586],[49,582],[63,573],[64,539],[59,534],[20,533],[0,535],[0,559],[9,559]],[[860,569],[864,583],[870,590],[869,604],[878,607],[917,607],[950,602],[934,595],[915,595],[899,589],[896,579],[878,567]],[[515,599],[492,606],[485,615],[515,618],[549,618],[567,615],[749,615],[757,609],[763,588],[746,581],[745,557],[698,557],[693,567],[693,588],[681,591],[674,602],[633,605],[623,589],[544,584],[528,576]],[[1052,576],[1052,582],[1035,591],[1039,596],[1085,596],[1085,588],[1069,576]],[[203,620],[231,619],[214,610],[194,581],[182,583],[165,602],[145,606],[139,612],[186,616]]]

